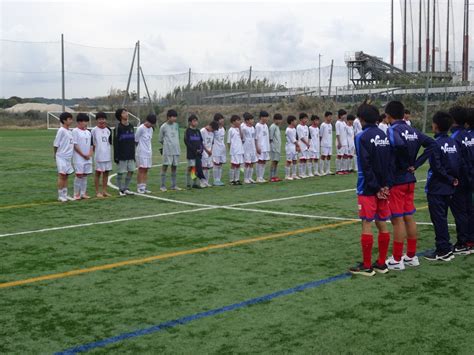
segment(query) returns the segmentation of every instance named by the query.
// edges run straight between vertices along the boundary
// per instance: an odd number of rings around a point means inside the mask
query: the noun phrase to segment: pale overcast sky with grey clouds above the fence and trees
[[[386,60],[389,56],[390,0],[0,2],[3,40],[55,42],[2,41],[0,97],[60,97],[61,33],[67,41],[66,70],[71,72],[66,76],[69,97],[124,88],[137,40],[146,75],[184,73],[188,68],[234,72],[250,65],[254,70],[315,68],[318,53],[323,54],[322,66],[331,59],[344,66],[345,53],[356,50]],[[400,7],[398,0],[395,3],[400,62]],[[461,30],[461,22],[457,26]],[[100,75],[84,75],[91,73]],[[163,90],[164,80],[170,78],[150,77],[150,89]]]

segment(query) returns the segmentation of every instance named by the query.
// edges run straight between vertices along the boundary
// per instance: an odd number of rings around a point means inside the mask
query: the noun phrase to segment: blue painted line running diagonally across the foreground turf
[[[256,297],[256,298],[251,298],[251,299],[243,301],[243,302],[234,303],[234,304],[224,306],[224,307],[221,307],[221,308],[215,308],[215,309],[211,309],[211,310],[206,311],[206,312],[196,313],[196,314],[193,314],[193,315],[190,315],[190,316],[185,316],[185,317],[182,317],[182,318],[178,318],[178,319],[170,320],[170,321],[167,321],[167,322],[163,322],[163,323],[151,326],[149,328],[138,329],[138,330],[135,330],[133,332],[122,333],[122,334],[119,334],[119,335],[116,335],[116,336],[113,336],[113,337],[110,337],[110,338],[106,338],[106,339],[103,339],[103,340],[99,340],[99,341],[96,341],[96,342],[83,344],[83,345],[78,345],[78,346],[75,346],[75,347],[57,352],[56,354],[57,355],[59,355],[59,354],[76,354],[76,353],[90,351],[90,350],[93,350],[93,349],[96,349],[96,348],[101,348],[101,347],[104,347],[104,346],[107,346],[107,345],[110,345],[110,344],[118,343],[118,342],[121,342],[121,341],[126,340],[126,339],[136,338],[136,337],[140,337],[140,336],[143,336],[143,335],[160,332],[162,330],[174,328],[178,325],[184,325],[184,324],[187,324],[189,322],[192,322],[192,321],[195,321],[195,320],[198,320],[198,319],[212,317],[212,316],[224,313],[224,312],[229,312],[229,311],[233,311],[233,310],[236,310],[236,309],[245,308],[245,307],[257,304],[257,303],[270,301],[272,299],[283,297],[283,296],[288,296],[288,295],[291,295],[291,294],[296,293],[296,292],[301,292],[301,291],[304,291],[304,290],[316,288],[316,287],[319,287],[319,286],[322,286],[322,285],[325,285],[325,284],[328,284],[328,283],[331,283],[331,282],[344,280],[344,279],[349,278],[350,276],[351,276],[351,274],[346,272],[346,273],[339,274],[339,275],[336,275],[336,276],[328,277],[326,279],[311,281],[311,282],[308,282],[308,283],[305,283],[305,284],[302,284],[302,285],[299,285],[299,286],[296,286],[296,287],[288,288],[286,290],[281,290],[281,291],[277,291],[277,292],[274,292],[274,293],[270,293],[268,295],[264,295],[264,296],[260,296],[260,297]]]

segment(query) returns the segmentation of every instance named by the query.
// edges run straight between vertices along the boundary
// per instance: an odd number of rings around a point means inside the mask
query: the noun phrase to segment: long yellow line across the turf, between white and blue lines
[[[82,275],[82,274],[87,274],[87,273],[102,271],[102,270],[109,270],[109,269],[114,269],[114,268],[128,266],[128,265],[138,265],[138,264],[149,263],[149,262],[157,261],[157,260],[165,260],[165,259],[170,259],[170,258],[174,258],[178,256],[183,256],[183,255],[199,254],[199,253],[204,253],[211,250],[231,248],[231,247],[235,247],[239,245],[252,244],[252,243],[261,242],[261,241],[270,240],[270,239],[288,237],[288,236],[292,236],[296,234],[311,233],[311,232],[316,232],[316,231],[325,230],[325,229],[337,228],[340,226],[354,224],[354,223],[359,223],[359,221],[344,221],[344,222],[326,224],[326,225],[317,226],[317,227],[296,229],[293,231],[269,234],[266,236],[249,238],[249,239],[241,239],[235,242],[215,244],[215,245],[210,245],[210,246],[202,247],[202,248],[195,248],[195,249],[177,251],[177,252],[172,252],[172,253],[154,255],[154,256],[149,256],[149,257],[141,258],[141,259],[131,259],[131,260],[120,261],[120,262],[112,263],[112,264],[93,266],[93,267],[85,268],[85,269],[76,269],[76,270],[61,272],[57,274],[44,275],[44,276],[33,277],[33,278],[23,279],[23,280],[18,280],[18,281],[4,282],[4,283],[0,283],[0,288],[10,288],[10,287],[15,287],[15,286],[28,285],[28,284],[32,284],[32,283],[36,283],[40,281],[62,279],[66,277],[77,276],[77,275]]]

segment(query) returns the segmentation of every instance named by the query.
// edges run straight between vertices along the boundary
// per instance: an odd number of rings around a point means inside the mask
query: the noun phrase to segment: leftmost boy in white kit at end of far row
[[[74,172],[71,164],[74,143],[69,130],[72,115],[69,112],[63,112],[59,116],[59,121],[62,126],[58,129],[53,143],[54,159],[58,168],[58,201],[67,202],[74,200],[67,195],[67,177]]]

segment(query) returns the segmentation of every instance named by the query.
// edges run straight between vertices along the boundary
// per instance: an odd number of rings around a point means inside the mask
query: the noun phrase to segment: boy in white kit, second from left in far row
[[[92,174],[92,147],[91,132],[87,129],[89,116],[79,113],[76,117],[77,127],[72,130],[72,142],[74,143],[74,154],[72,161],[76,177],[74,178],[74,199],[89,199],[87,195],[87,176]]]

